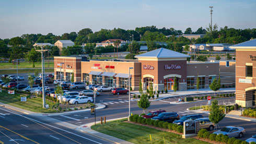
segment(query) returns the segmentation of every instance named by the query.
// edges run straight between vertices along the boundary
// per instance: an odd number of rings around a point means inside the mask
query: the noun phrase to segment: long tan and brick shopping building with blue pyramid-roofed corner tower
[[[55,79],[70,80],[74,73],[75,81],[105,85],[110,87],[129,86],[129,69],[131,87],[138,90],[139,81],[143,83],[143,89],[148,89],[150,83],[154,90],[172,91],[174,79],[177,82],[177,90],[184,91],[196,89],[196,80],[200,79],[200,88],[209,88],[213,79],[218,79],[220,74],[219,62],[189,62],[189,55],[160,48],[154,51],[135,56],[137,59],[90,59],[82,56],[55,56]],[[61,63],[62,66],[61,66]],[[222,63],[223,67],[230,70]],[[224,69],[223,74],[225,74]],[[229,72],[228,72],[229,73]],[[228,74],[227,73],[227,74]],[[230,72],[230,74],[235,71]],[[221,84],[226,87],[235,85],[234,76],[221,76]],[[222,77],[225,79],[222,82]]]

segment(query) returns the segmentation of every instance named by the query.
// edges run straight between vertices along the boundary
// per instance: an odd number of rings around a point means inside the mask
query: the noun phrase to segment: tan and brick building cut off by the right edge
[[[236,103],[256,105],[256,39],[231,46],[236,49]]]

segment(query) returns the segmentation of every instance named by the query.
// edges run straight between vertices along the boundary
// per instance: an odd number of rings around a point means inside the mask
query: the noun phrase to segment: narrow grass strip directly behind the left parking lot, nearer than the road
[[[42,69],[37,69],[39,73],[41,73]],[[0,74],[16,74],[17,70],[16,69],[0,69]],[[34,69],[18,69],[18,73],[34,73]],[[45,68],[45,73],[54,73],[54,68],[51,69],[46,69]]]

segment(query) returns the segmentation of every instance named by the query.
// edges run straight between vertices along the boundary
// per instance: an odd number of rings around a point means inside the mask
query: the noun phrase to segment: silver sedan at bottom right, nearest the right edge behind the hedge
[[[239,137],[241,138],[243,135],[245,135],[246,130],[242,127],[235,127],[235,126],[226,126],[223,129],[220,129],[218,131],[215,131],[213,134],[223,134],[224,136],[228,137]]]

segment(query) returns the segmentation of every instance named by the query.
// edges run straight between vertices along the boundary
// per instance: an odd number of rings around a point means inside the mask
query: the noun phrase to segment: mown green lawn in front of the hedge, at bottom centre
[[[96,126],[91,126],[91,129],[132,143],[208,143],[193,138],[182,139],[181,135],[146,126],[123,123],[126,120],[112,121],[103,125],[97,124]],[[149,134],[152,136],[152,141],[150,141]]]

